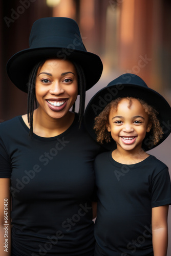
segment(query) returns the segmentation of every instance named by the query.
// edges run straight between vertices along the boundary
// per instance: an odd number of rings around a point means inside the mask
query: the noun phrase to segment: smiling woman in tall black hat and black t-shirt
[[[101,148],[81,121],[102,62],[70,18],[37,20],[29,43],[7,64],[12,82],[28,92],[28,113],[0,127],[0,254],[91,256],[93,160]]]

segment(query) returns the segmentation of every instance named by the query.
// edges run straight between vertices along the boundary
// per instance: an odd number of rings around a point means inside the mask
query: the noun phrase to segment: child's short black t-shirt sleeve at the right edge
[[[152,181],[152,207],[171,204],[171,185],[168,168],[165,167]]]

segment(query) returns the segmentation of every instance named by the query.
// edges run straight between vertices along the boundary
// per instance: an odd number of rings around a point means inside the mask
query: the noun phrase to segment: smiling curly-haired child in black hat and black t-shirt
[[[169,104],[139,76],[124,74],[95,94],[84,121],[110,150],[94,165],[95,256],[166,256],[168,167],[146,151],[170,134]]]

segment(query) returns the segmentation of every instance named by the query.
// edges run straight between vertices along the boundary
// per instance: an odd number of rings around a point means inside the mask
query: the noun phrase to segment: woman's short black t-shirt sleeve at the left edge
[[[0,178],[10,178],[11,167],[3,139],[0,137]]]

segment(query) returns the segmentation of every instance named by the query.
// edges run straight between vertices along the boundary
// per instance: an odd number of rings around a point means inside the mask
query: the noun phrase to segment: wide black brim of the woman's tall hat
[[[29,48],[14,54],[7,63],[8,76],[18,89],[27,93],[27,83],[34,65],[40,60],[51,58],[68,59],[78,63],[86,77],[86,91],[101,77],[103,65],[98,55],[61,47]]]

